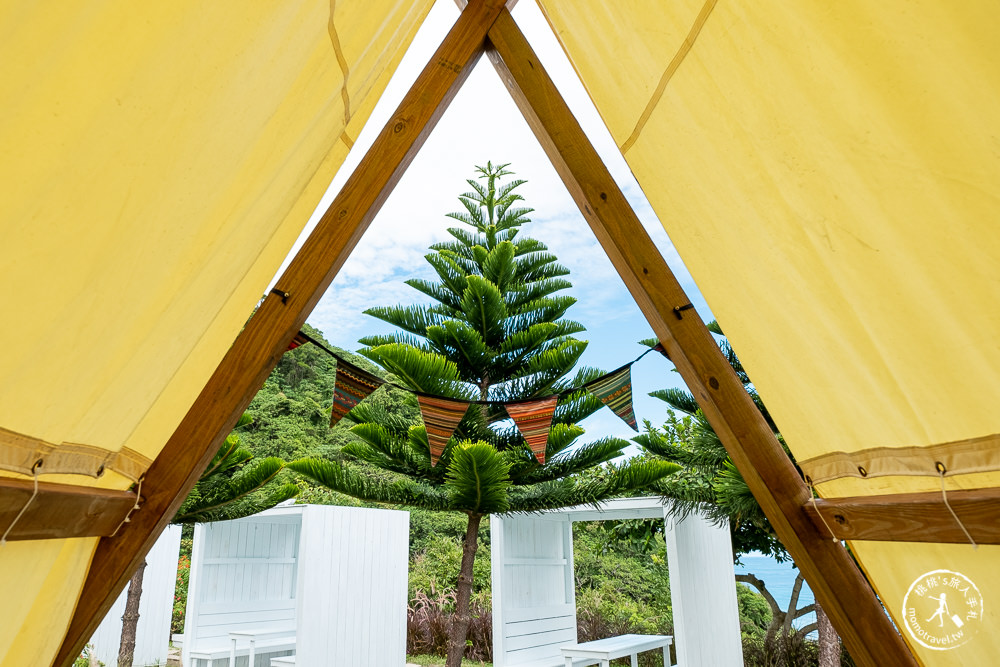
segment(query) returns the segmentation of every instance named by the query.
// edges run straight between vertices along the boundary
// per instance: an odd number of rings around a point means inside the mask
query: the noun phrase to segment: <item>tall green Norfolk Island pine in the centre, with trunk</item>
[[[477,167],[478,179],[459,201],[462,223],[453,240],[426,255],[438,280],[408,280],[430,297],[423,306],[376,307],[366,311],[401,331],[361,339],[361,354],[406,387],[472,405],[436,465],[422,423],[387,414],[362,402],[349,414],[359,441],[344,452],[349,463],[304,459],[289,467],[341,493],[379,503],[468,516],[455,615],[449,629],[448,667],[459,667],[470,621],[472,567],[482,517],[596,503],[648,486],[678,468],[666,461],[625,461],[628,441],[602,438],[577,444],[579,422],[602,407],[583,389],[561,397],[546,443],[536,460],[502,404],[550,397],[601,375],[593,368],[570,373],[587,343],[573,334],[583,325],[563,315],[575,299],[569,271],[541,242],[520,236],[532,209],[519,205],[523,180],[502,182],[508,165]],[[482,182],[480,182],[482,181]],[[411,399],[414,400],[415,399]],[[605,466],[586,480],[577,473]]]

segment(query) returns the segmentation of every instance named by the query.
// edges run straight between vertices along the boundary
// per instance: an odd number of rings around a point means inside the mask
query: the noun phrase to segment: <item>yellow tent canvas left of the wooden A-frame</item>
[[[0,7],[0,441],[156,457],[430,4]],[[0,664],[50,664],[94,545],[0,547]]]

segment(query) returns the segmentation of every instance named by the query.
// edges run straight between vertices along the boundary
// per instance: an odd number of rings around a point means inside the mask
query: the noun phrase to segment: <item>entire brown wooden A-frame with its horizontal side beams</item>
[[[608,253],[670,359],[716,432],[817,600],[860,665],[915,665],[842,539],[962,541],[946,506],[933,494],[840,499],[812,503],[811,492],[696,316],[689,300],[646,235],[597,152],[560,97],[503,0],[473,0],[462,11],[396,113],[386,124],[340,195],[260,305],[145,475],[142,508],[121,523],[134,501],[127,492],[70,493],[40,485],[31,516],[18,523],[22,539],[33,536],[103,535],[64,643],[56,659],[66,666],[124,588],[169,518],[210,460],[237,417],[250,403],[294,334],[317,304],[365,232],[406,166],[482,55],[488,55],[552,160],[584,217]],[[10,498],[30,484],[4,482]],[[61,494],[61,495],[60,495]],[[23,501],[22,501],[23,502]],[[966,523],[980,543],[1000,543],[989,518],[995,491],[952,495],[980,521]],[[11,503],[18,505],[18,503]],[[71,533],[69,514],[93,517],[109,509],[101,526],[93,520]],[[42,509],[59,512],[64,530]],[[113,512],[111,511],[113,510]],[[910,521],[919,513],[919,520]],[[819,515],[822,515],[820,517]],[[50,515],[51,516],[51,515]],[[823,521],[825,519],[825,522]],[[79,523],[79,522],[78,522]],[[107,525],[104,525],[107,524]],[[947,528],[947,530],[945,530]],[[58,535],[54,534],[58,533]]]

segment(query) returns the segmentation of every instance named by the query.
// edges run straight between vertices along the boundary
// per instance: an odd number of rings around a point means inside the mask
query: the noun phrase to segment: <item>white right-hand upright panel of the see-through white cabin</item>
[[[677,663],[683,667],[742,665],[728,524],[713,526],[698,514],[675,521],[666,514],[665,508]]]

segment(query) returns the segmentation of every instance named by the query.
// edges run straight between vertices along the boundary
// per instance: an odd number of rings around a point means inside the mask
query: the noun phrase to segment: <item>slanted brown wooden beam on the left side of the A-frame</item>
[[[473,0],[146,474],[146,502],[97,547],[55,664],[70,665],[250,404],[483,53],[502,0]]]

